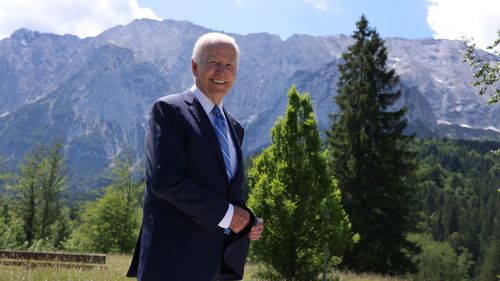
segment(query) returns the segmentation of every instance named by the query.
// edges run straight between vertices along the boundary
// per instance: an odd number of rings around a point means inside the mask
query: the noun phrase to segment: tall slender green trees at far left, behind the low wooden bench
[[[4,205],[5,222],[12,226],[2,240],[15,248],[59,248],[65,235],[54,235],[56,225],[65,221],[62,192],[65,170],[62,144],[36,146],[20,162],[14,177],[13,202]],[[7,207],[5,207],[7,206]],[[20,227],[19,227],[20,226]],[[36,242],[36,246],[34,246]]]

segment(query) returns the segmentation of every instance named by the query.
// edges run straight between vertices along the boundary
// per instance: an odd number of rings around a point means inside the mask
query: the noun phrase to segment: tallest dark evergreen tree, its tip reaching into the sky
[[[414,271],[410,256],[418,247],[406,235],[414,230],[415,153],[409,150],[413,137],[403,134],[406,108],[394,108],[399,79],[386,69],[384,41],[364,16],[352,37],[355,43],[338,66],[340,112],[328,134],[342,203],[361,236],[344,265],[383,274]]]

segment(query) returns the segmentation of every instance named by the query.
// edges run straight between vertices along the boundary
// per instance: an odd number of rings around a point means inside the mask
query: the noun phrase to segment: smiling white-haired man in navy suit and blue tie
[[[264,228],[242,198],[243,127],[223,106],[238,68],[234,38],[201,36],[194,85],[153,105],[146,134],[141,234],[127,276],[240,280]]]

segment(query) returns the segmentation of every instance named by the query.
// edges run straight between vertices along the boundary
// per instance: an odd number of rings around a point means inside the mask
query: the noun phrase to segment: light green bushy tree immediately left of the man
[[[104,195],[83,207],[81,225],[66,244],[68,249],[129,253],[140,227],[143,180],[134,178],[130,157],[115,158],[113,182]]]

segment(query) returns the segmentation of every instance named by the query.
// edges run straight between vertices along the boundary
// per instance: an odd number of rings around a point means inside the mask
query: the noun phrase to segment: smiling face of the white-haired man
[[[200,58],[199,62],[191,62],[196,86],[219,104],[236,79],[236,49],[227,42],[213,42],[204,47]]]

